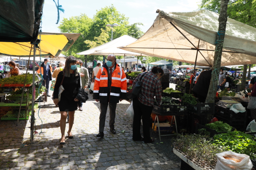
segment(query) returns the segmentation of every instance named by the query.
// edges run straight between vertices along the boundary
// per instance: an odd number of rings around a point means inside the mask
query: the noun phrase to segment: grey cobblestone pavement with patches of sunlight
[[[52,93],[52,91],[50,92]],[[75,121],[72,129],[73,139],[66,134],[66,145],[61,147],[59,109],[48,97],[48,102],[41,103],[39,117],[36,112],[36,131],[34,146],[21,147],[22,141],[30,137],[30,122],[20,120],[0,122],[0,169],[1,170],[180,170],[180,163],[169,160],[154,143],[143,143],[132,140],[132,121],[127,118],[125,111],[129,102],[117,104],[115,129],[112,134],[108,127],[107,114],[105,137],[97,138],[100,104],[89,100],[83,105],[84,111],[75,112]],[[108,112],[109,113],[109,112]],[[66,124],[66,131],[68,124]],[[122,133],[124,131],[124,133]],[[18,149],[18,150],[17,150]]]

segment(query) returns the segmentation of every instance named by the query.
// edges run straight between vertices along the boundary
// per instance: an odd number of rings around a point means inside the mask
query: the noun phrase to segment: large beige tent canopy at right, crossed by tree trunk
[[[194,64],[200,40],[196,64],[213,66],[219,14],[208,10],[157,12],[159,15],[154,24],[140,39],[120,48]],[[227,23],[221,66],[256,64],[256,28],[230,18]],[[175,28],[176,26],[191,42]]]

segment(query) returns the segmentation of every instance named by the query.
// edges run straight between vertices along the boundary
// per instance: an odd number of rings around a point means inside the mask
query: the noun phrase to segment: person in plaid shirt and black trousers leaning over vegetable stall
[[[161,68],[153,67],[150,72],[140,73],[134,80],[133,86],[135,86],[142,75],[142,90],[138,97],[133,99],[133,140],[152,143],[154,142],[154,139],[150,138],[150,115],[152,113],[155,100],[158,104],[161,103],[162,85],[160,78],[164,75],[164,71]],[[144,138],[140,135],[141,117]]]

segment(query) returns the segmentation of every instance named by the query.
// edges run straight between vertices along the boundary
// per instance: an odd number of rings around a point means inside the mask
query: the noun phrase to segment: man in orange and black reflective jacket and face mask
[[[124,70],[116,63],[116,56],[107,56],[107,62],[98,71],[94,82],[93,98],[100,101],[100,126],[97,137],[104,136],[107,107],[110,108],[110,131],[116,134],[114,129],[116,117],[116,105],[126,98],[127,81]]]

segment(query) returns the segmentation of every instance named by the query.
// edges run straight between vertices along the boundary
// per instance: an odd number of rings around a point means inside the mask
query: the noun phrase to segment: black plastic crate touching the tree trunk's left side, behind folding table
[[[188,111],[196,114],[214,114],[215,111],[215,103],[184,104],[188,105]]]

